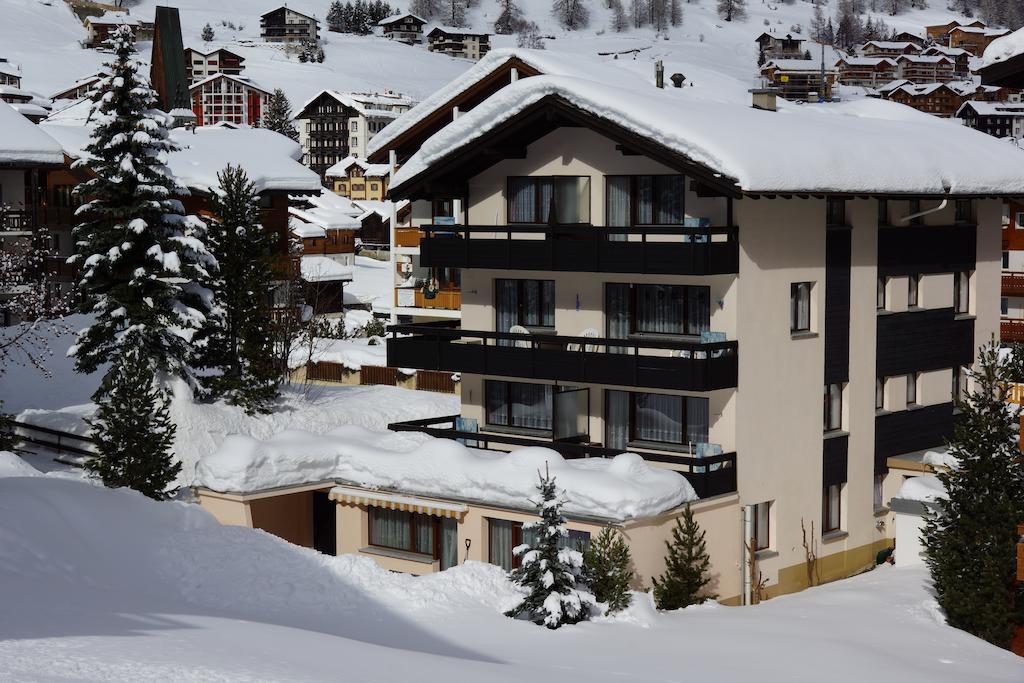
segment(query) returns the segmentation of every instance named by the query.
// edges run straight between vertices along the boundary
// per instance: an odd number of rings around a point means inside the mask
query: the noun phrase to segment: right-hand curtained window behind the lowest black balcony
[[[677,446],[708,442],[707,398],[607,389],[604,410],[609,449],[635,441]]]

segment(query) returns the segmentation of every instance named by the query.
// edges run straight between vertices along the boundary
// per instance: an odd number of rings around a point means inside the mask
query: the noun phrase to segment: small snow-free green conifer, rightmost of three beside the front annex
[[[705,544],[705,531],[693,519],[687,505],[683,516],[676,519],[672,529],[672,543],[665,542],[669,554],[665,558],[665,573],[654,579],[654,602],[658,609],[679,609],[714,599],[703,594],[711,582],[707,575],[711,558]]]

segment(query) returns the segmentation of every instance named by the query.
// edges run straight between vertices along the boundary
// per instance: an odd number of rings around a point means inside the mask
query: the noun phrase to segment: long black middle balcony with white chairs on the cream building
[[[734,388],[738,374],[734,341],[563,337],[434,325],[399,325],[391,332],[392,368],[682,391]]]

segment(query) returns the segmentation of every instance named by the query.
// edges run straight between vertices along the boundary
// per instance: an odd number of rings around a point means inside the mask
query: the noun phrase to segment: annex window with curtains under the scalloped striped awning
[[[371,546],[430,555],[441,569],[459,563],[456,520],[373,506],[368,517]]]

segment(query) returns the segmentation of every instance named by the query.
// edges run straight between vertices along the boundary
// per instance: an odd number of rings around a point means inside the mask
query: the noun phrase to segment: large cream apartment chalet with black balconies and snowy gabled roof
[[[561,72],[505,81],[513,58]],[[447,119],[390,196],[441,204],[417,225],[420,265],[460,270],[462,292],[459,327],[388,342],[390,366],[461,374],[460,415],[392,428],[636,453],[731,511],[709,538],[739,546],[748,520],[770,595],[806,584],[802,522],[823,580],[869,566],[891,544],[890,459],[952,433],[963,369],[996,330],[1017,153],[945,122],[782,115],[600,67],[506,54],[385,131],[398,158]],[[802,143],[780,157],[780,139]],[[946,172],[966,160],[970,180]],[[733,559],[713,552],[713,572]]]

